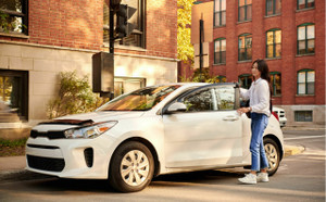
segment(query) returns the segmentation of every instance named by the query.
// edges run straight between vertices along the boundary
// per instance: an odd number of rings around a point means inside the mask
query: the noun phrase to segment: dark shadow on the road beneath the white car
[[[218,184],[220,180],[231,181],[230,178],[238,178],[239,173],[230,173],[229,171],[204,171],[204,172],[191,172],[183,174],[170,174],[154,177],[150,187],[174,187],[183,186],[184,182],[189,184]],[[34,174],[32,172],[24,172],[15,175],[16,179],[7,179],[0,184],[0,190],[15,190],[14,181],[20,180],[23,192],[30,192],[34,194],[45,194],[60,192],[60,194],[71,194],[73,192],[86,192],[86,193],[118,193],[109,186],[108,180],[102,179],[64,179],[57,178],[47,175]],[[37,191],[36,191],[37,190]]]

